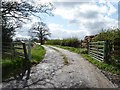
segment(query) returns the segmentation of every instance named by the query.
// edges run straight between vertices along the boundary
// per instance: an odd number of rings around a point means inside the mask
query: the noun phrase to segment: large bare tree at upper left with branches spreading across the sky
[[[53,5],[51,3],[38,4],[31,3],[32,0],[10,1],[2,0],[2,38],[3,42],[11,41],[16,28],[21,27],[22,23],[30,20],[30,16],[37,16],[38,13],[52,15]],[[6,39],[4,39],[6,38]]]

